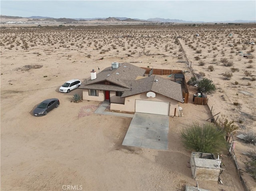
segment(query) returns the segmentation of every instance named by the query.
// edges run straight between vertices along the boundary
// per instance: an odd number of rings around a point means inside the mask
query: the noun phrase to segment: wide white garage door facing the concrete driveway
[[[169,115],[170,102],[161,101],[135,101],[135,112]]]

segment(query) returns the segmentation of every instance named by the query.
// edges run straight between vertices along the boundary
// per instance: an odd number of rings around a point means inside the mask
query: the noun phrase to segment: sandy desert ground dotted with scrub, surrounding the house
[[[195,186],[182,129],[210,123],[206,119],[213,106],[212,114],[235,121],[236,134],[256,132],[256,51],[246,43],[255,39],[256,26],[249,24],[1,26],[1,190],[66,190],[72,185],[76,190],[181,191],[184,185]],[[92,69],[112,62],[179,69],[186,81],[194,72],[198,79],[211,79],[217,90],[208,95],[208,106],[195,105],[197,89],[188,85],[189,102],[180,104],[184,116],[169,119],[168,150],[122,146],[132,118],[94,114],[100,102],[71,102],[75,93],[82,95],[81,89],[58,92],[64,82],[84,81]],[[225,78],[225,72],[232,77]],[[47,98],[58,98],[60,106],[47,116],[33,116],[32,110]],[[244,171],[248,158],[242,153],[254,148],[236,138]],[[227,150],[221,158],[223,184],[198,181],[199,187],[243,190]],[[255,191],[256,182],[243,176]]]

